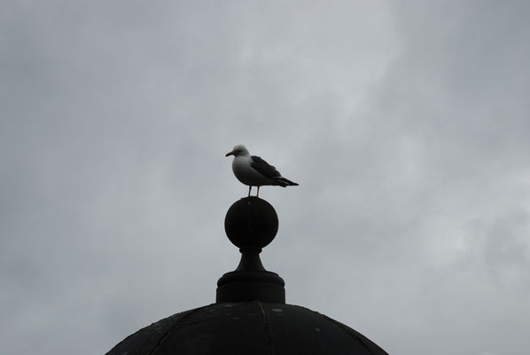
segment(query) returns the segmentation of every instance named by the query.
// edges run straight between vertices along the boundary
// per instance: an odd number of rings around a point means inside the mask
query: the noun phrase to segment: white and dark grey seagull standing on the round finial
[[[234,155],[232,170],[241,183],[248,185],[249,197],[252,186],[258,187],[256,197],[259,197],[260,186],[263,185],[282,187],[298,185],[297,183],[293,183],[291,180],[282,177],[275,167],[269,165],[268,162],[265,162],[259,156],[250,155],[248,149],[243,145],[234,146],[234,149],[226,154],[226,156],[229,155]]]

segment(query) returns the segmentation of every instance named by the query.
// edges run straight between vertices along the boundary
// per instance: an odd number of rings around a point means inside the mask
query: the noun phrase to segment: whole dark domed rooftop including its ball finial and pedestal
[[[236,201],[224,229],[241,260],[217,282],[216,303],[161,319],[107,355],[377,355],[384,350],[323,314],[285,304],[284,280],[261,264],[274,240],[275,209],[257,197]]]

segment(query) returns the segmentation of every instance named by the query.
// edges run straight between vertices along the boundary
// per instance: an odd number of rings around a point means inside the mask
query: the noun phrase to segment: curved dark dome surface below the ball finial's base
[[[354,329],[292,304],[210,304],[138,330],[107,355],[386,354]]]

